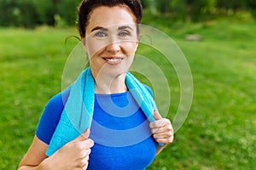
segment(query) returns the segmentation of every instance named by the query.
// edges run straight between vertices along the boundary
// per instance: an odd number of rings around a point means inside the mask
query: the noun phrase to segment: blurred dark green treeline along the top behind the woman
[[[0,26],[74,25],[81,0],[0,0]],[[256,18],[256,0],[141,0],[152,14],[171,14],[174,20],[200,21],[249,9]],[[232,13],[231,13],[232,14]]]

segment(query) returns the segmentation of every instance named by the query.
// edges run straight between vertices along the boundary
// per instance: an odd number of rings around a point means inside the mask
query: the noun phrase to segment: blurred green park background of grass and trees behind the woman
[[[194,81],[189,116],[173,144],[148,169],[256,167],[255,0],[144,0],[143,24],[172,37]],[[15,169],[26,153],[44,105],[61,91],[68,54],[79,42],[79,0],[0,0],[0,169]],[[196,38],[189,38],[189,36]],[[171,120],[179,104],[169,71]]]

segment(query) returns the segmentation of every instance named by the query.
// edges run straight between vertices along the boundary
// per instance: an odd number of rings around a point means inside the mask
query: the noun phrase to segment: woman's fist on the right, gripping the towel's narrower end
[[[174,131],[169,119],[162,118],[158,111],[154,111],[154,122],[150,122],[149,127],[156,142],[170,144],[173,142]]]

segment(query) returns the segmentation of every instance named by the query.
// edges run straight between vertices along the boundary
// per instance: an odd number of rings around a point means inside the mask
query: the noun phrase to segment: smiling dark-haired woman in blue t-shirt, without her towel
[[[152,113],[154,122],[148,122],[125,82],[137,50],[142,13],[139,0],[84,0],[80,3],[79,33],[90,58],[87,72],[93,77],[92,122],[84,128],[84,133],[50,152],[74,88],[55,95],[45,106],[32,145],[20,161],[20,170],[145,169],[166,144],[172,143],[171,122],[161,118],[157,110]],[[86,99],[90,95],[85,92],[84,96]],[[146,126],[129,136],[112,133],[125,133],[141,124]],[[107,129],[107,134],[102,129]],[[148,135],[148,131],[152,135]],[[71,135],[67,128],[63,133],[62,136]],[[140,139],[140,136],[145,138]]]

